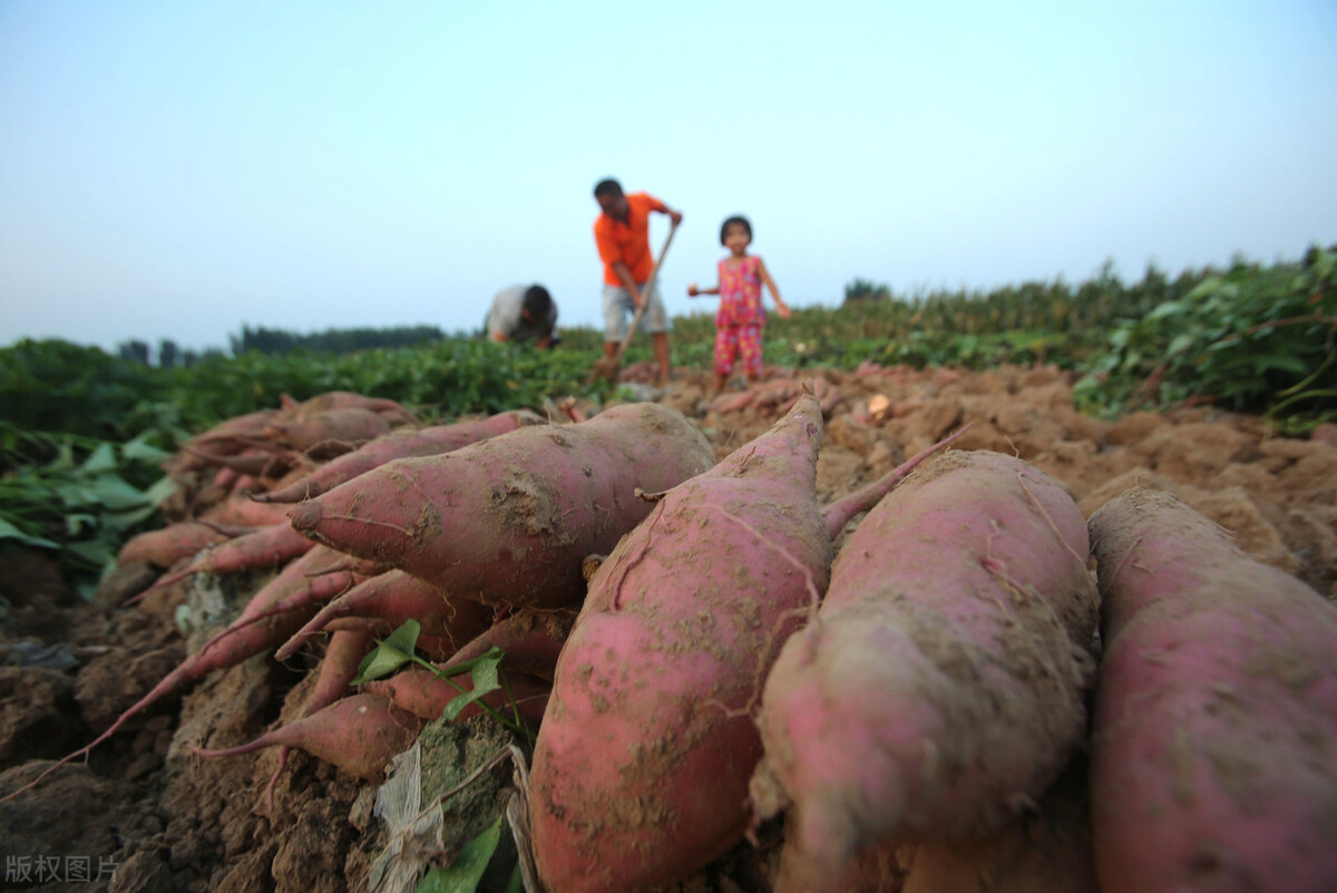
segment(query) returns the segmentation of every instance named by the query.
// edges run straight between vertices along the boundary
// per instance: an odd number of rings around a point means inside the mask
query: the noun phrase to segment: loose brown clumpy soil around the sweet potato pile
[[[623,380],[648,381],[628,368]],[[1257,559],[1337,598],[1337,442],[1274,434],[1263,420],[1206,406],[1102,421],[1074,409],[1060,370],[865,368],[808,370],[826,416],[818,500],[829,503],[971,422],[960,449],[1016,455],[1054,476],[1090,516],[1130,487],[1167,489],[1230,531]],[[643,397],[687,414],[718,457],[770,426],[800,378],[707,394],[709,373],[681,372]],[[566,404],[574,416],[598,408]],[[858,519],[852,521],[852,527]],[[838,545],[838,543],[837,543]],[[186,655],[176,624],[190,580],[119,607],[154,576],[130,565],[94,603],[79,602],[40,552],[0,552],[0,797],[91,741]],[[234,600],[263,576],[229,580]],[[301,751],[273,802],[277,750],[205,759],[293,718],[316,655],[259,655],[215,672],[130,721],[87,762],[0,802],[4,889],[116,892],[364,890],[384,846],[376,786]],[[507,770],[509,771],[509,770]],[[770,841],[773,844],[773,841]],[[681,890],[769,890],[773,846],[741,845]],[[90,878],[88,881],[80,878]]]

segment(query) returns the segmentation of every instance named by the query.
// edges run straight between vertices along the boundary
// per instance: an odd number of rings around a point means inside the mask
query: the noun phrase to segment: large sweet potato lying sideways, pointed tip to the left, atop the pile
[[[662,492],[713,463],[681,413],[623,404],[576,425],[535,425],[441,456],[397,459],[293,507],[334,548],[496,606],[580,599],[580,561],[607,552]]]

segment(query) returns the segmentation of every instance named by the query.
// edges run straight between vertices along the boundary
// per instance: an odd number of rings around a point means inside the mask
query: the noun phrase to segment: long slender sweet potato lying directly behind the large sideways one
[[[394,459],[439,456],[524,425],[541,422],[540,416],[521,409],[451,425],[401,428],[381,434],[350,453],[344,453],[289,487],[261,493],[255,499],[262,503],[299,503],[303,499],[320,496],[332,487],[350,481]]]

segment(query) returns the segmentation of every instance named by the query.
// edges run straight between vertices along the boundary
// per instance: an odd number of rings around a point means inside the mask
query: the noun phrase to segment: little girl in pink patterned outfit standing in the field
[[[731,217],[719,227],[719,243],[729,249],[729,257],[719,262],[719,285],[711,289],[698,289],[693,282],[687,294],[718,294],[719,310],[715,313],[715,390],[725,386],[734,370],[734,360],[742,358],[743,373],[749,384],[761,380],[761,330],[766,325],[766,309],[761,302],[762,283],[775,299],[775,313],[781,320],[789,318],[789,307],[779,297],[779,289],[766,271],[766,265],[754,254],[747,254],[751,245],[751,223],[746,217]]]

